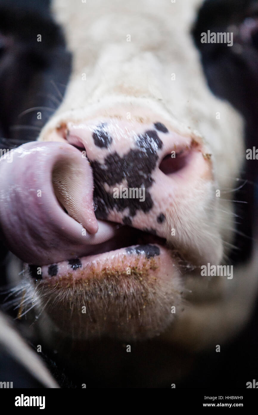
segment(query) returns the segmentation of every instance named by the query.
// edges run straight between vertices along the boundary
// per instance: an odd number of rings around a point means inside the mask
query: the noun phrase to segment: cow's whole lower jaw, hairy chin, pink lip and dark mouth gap
[[[34,298],[73,339],[153,337],[182,302],[181,273],[166,240],[127,226],[90,255],[25,268],[36,280]]]

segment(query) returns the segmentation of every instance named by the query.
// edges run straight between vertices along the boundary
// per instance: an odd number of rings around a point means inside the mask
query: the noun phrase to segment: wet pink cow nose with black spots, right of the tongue
[[[171,210],[182,199],[191,203],[193,188],[211,178],[200,137],[179,134],[158,118],[68,122],[65,137],[91,164],[96,217],[160,237]]]

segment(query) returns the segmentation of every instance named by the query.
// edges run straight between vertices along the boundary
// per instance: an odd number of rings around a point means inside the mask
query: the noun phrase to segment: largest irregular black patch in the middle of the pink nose
[[[154,130],[137,136],[135,143],[138,148],[130,149],[122,157],[114,152],[104,159],[104,163],[90,161],[94,176],[95,215],[99,219],[106,220],[112,210],[123,212],[128,208],[129,216],[125,216],[124,223],[130,225],[138,210],[149,212],[152,209],[149,188],[154,182],[152,171],[157,165],[157,151],[163,144]],[[127,188],[145,188],[145,200],[114,198],[113,189],[105,189],[105,185],[119,188],[122,182],[126,183]]]

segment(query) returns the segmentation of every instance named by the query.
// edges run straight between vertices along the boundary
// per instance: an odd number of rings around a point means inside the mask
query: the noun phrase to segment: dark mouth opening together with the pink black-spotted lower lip
[[[27,265],[26,268],[34,280],[58,283],[59,287],[106,276],[168,276],[176,261],[166,246],[166,239],[156,236],[154,230],[151,232],[118,225],[115,236],[93,245],[87,256],[72,257],[40,268]]]

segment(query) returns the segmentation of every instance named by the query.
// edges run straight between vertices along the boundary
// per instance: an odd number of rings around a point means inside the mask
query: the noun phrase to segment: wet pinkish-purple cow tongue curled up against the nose
[[[87,158],[60,142],[30,142],[0,159],[0,228],[7,247],[46,265],[92,252],[114,226],[97,221]]]

